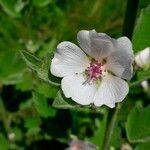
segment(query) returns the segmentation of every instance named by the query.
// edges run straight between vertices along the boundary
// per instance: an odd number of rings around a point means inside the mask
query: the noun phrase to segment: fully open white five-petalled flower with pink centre
[[[95,30],[81,30],[77,39],[83,51],[71,42],[60,43],[51,62],[51,73],[63,77],[61,88],[67,98],[81,105],[113,108],[129,91],[124,79],[132,77],[130,40],[115,40]]]

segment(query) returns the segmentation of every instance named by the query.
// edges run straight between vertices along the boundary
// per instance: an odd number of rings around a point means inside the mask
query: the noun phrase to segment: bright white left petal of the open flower
[[[73,73],[80,73],[87,68],[89,60],[86,54],[71,42],[62,42],[57,46],[57,52],[51,63],[51,73],[64,77]]]

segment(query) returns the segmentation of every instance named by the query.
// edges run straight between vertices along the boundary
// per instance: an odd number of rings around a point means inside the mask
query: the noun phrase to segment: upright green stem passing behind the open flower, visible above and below
[[[139,0],[127,1],[126,14],[125,14],[124,26],[123,26],[123,35],[127,36],[129,39],[132,39],[134,24],[136,20],[136,14],[138,10],[138,3],[139,3]],[[114,132],[115,123],[117,122],[117,115],[121,106],[122,106],[122,103],[118,104],[115,109],[112,109],[109,111],[108,118],[107,118],[108,122],[107,122],[106,130],[105,130],[105,137],[104,137],[102,150],[109,149],[112,134]]]

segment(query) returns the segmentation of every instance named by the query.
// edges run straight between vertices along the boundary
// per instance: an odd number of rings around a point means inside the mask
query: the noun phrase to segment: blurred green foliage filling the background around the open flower
[[[36,66],[47,57],[49,67],[57,44],[65,40],[77,43],[79,30],[96,29],[114,38],[121,36],[126,3],[126,0],[0,0],[0,150],[61,150],[77,137],[101,149],[108,109],[53,108],[59,87],[39,79],[44,75]],[[133,34],[135,52],[150,46],[149,4],[149,0],[139,2],[139,19]],[[27,68],[21,50],[39,58],[35,60],[36,66],[32,66],[38,76]],[[133,80],[136,78],[138,75]],[[113,150],[126,145],[149,150],[149,100],[150,92],[141,86],[131,88],[115,123]]]

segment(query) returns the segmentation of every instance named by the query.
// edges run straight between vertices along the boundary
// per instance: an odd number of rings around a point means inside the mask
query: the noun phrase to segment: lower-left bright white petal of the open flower
[[[82,74],[74,74],[64,77],[61,88],[67,98],[72,98],[81,105],[88,105],[93,102],[96,88],[94,84],[83,84],[85,78]]]

